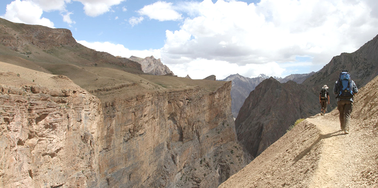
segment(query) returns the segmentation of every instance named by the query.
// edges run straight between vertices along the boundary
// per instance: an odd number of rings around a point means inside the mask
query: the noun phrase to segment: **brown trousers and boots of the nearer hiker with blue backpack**
[[[350,114],[353,110],[353,102],[351,101],[339,101],[337,102],[337,109],[340,113],[340,127],[341,130],[349,131],[350,126]]]

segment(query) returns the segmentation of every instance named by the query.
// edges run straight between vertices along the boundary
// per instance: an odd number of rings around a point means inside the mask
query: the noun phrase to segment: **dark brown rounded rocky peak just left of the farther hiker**
[[[281,84],[273,77],[253,90],[235,120],[238,140],[256,157],[300,118],[318,112],[319,99],[293,81]]]

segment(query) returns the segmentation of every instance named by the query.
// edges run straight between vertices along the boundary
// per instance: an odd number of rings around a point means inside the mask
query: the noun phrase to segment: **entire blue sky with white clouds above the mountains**
[[[316,72],[378,34],[378,0],[1,0],[0,17],[192,79]]]

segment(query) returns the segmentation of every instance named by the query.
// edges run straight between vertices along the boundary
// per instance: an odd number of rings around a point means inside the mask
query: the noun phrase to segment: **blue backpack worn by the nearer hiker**
[[[352,80],[350,79],[349,72],[342,71],[339,75],[339,80],[337,85],[339,87],[339,95],[340,99],[350,99],[353,97],[353,88],[351,84]]]

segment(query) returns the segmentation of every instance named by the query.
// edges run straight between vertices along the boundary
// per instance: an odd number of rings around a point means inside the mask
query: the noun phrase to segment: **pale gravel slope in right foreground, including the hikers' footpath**
[[[378,187],[378,77],[360,89],[351,131],[337,109],[297,124],[219,188]]]

